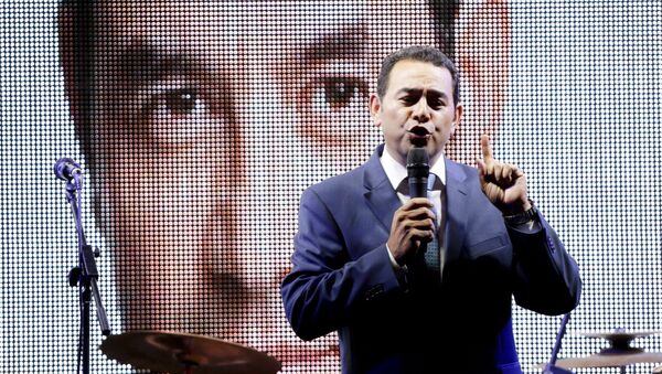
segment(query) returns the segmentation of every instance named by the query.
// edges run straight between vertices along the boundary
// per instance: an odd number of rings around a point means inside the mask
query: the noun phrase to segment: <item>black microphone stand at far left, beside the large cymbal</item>
[[[83,184],[83,175],[79,171],[73,173],[73,179],[68,180],[65,184],[66,200],[68,201],[74,221],[76,223],[76,233],[78,237],[78,266],[74,267],[70,271],[68,282],[70,286],[78,286],[79,299],[81,299],[81,335],[78,341],[78,363],[81,360],[81,346],[83,348],[83,373],[89,374],[89,303],[94,296],[96,304],[97,319],[99,321],[102,333],[104,335],[110,334],[110,325],[108,324],[108,318],[106,310],[102,303],[102,297],[97,287],[97,279],[99,274],[96,268],[95,257],[99,256],[99,250],[93,250],[92,246],[87,245],[85,241],[85,233],[83,232],[83,224],[81,220],[81,190]]]

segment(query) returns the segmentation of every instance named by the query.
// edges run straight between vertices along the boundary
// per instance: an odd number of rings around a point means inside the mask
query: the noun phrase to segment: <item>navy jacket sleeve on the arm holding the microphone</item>
[[[333,209],[343,204],[344,210]],[[349,238],[343,237],[348,229],[340,222],[353,225],[353,233],[362,224],[355,217],[337,216],[339,211],[355,211],[346,209],[350,204],[334,196],[330,206],[314,189],[301,196],[292,269],[281,285],[286,316],[301,339],[335,331],[359,316],[357,310],[370,309],[385,295],[402,292],[386,241],[360,253],[348,248]]]

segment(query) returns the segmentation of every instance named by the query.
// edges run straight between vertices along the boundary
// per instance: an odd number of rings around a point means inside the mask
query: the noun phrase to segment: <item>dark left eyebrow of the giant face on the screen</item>
[[[116,61],[121,79],[130,86],[158,82],[166,75],[201,75],[207,68],[191,51],[174,44],[137,42],[129,45]]]

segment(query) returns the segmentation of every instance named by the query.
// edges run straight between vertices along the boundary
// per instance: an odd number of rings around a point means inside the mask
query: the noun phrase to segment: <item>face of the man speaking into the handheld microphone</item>
[[[393,66],[384,97],[373,95],[371,103],[386,149],[402,164],[414,146],[425,147],[436,161],[462,115],[462,106],[453,101],[450,72],[413,60]]]

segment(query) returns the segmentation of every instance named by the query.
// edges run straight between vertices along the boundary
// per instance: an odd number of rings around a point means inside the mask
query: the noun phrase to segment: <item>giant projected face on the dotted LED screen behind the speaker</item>
[[[124,330],[220,336],[303,371],[334,357],[280,304],[299,193],[380,141],[381,60],[438,45],[438,17],[427,1],[99,1],[79,133]]]

